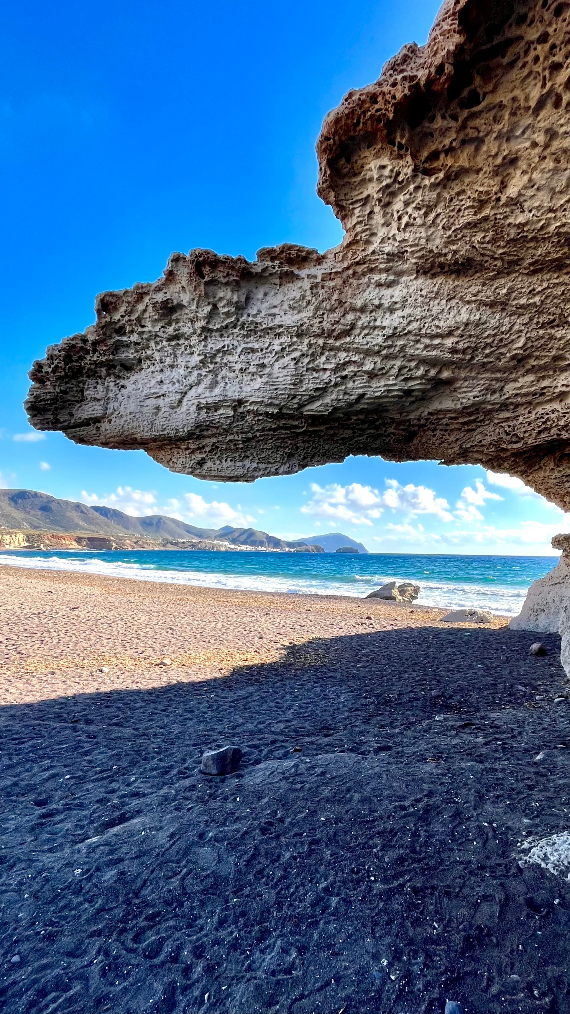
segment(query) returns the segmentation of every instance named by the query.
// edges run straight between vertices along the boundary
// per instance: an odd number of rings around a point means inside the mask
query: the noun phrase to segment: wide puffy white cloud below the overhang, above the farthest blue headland
[[[433,490],[425,486],[414,486],[413,483],[401,486],[396,479],[386,479],[385,485],[385,492],[378,493],[372,487],[361,486],[360,483],[352,483],[350,486],[333,483],[325,487],[312,483],[312,498],[300,510],[302,514],[352,524],[371,525],[385,508],[412,516],[434,514],[442,521],[452,520],[449,504],[442,497],[436,497]]]

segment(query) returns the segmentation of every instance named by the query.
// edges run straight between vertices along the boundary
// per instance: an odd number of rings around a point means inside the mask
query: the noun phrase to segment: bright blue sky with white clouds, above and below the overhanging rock
[[[157,278],[172,250],[254,258],[342,238],[314,142],[349,88],[425,42],[438,3],[32,2],[0,43],[0,483],[196,524],[342,530],[371,551],[552,553],[569,519],[483,468],[349,458],[253,485],[168,473],[140,451],[37,434],[22,402],[47,345],[97,292]],[[40,439],[41,438],[41,439]]]

